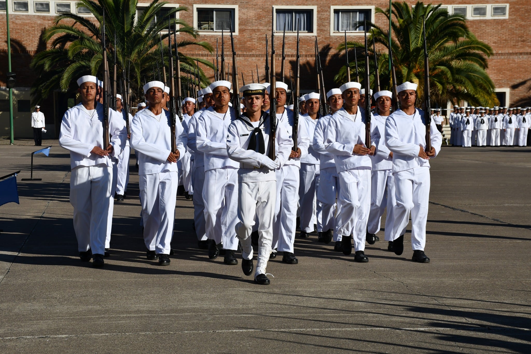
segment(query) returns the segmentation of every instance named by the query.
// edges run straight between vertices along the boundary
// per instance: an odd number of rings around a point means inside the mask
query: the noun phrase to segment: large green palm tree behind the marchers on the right
[[[457,103],[461,100],[479,106],[493,106],[498,103],[494,93],[494,84],[486,73],[487,57],[493,54],[492,48],[478,40],[467,27],[461,14],[449,14],[441,5],[424,5],[417,2],[410,7],[406,2],[393,2],[391,23],[393,38],[391,48],[393,62],[399,83],[410,81],[418,84],[419,100],[423,100],[424,90],[424,50],[423,20],[426,26],[427,51],[430,62],[431,98],[440,106],[448,101]],[[384,14],[389,21],[389,8],[376,8],[376,13]],[[389,72],[389,31],[371,23],[372,27],[367,41],[383,45],[384,53],[376,51],[382,89],[391,87]],[[357,48],[360,77],[364,77],[364,44],[347,42],[347,48]],[[337,48],[345,50],[345,44]],[[373,51],[370,50],[371,58]],[[353,57],[353,56],[352,56]],[[373,62],[373,61],[371,61]],[[371,63],[371,72],[374,64]],[[350,65],[351,70],[354,64]],[[352,76],[352,73],[351,73]],[[346,66],[342,67],[335,80],[345,82]],[[371,73],[370,81],[374,82]]]

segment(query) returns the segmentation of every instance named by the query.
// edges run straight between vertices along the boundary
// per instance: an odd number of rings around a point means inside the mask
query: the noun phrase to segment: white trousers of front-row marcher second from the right
[[[365,250],[365,232],[371,208],[371,170],[339,172],[339,234],[353,236],[356,251]]]

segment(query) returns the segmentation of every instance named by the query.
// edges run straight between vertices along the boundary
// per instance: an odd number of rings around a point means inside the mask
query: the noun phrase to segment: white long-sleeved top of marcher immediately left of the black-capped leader
[[[204,170],[215,168],[238,168],[239,163],[229,159],[227,154],[228,127],[236,119],[234,109],[217,113],[213,107],[205,109],[196,126],[196,146],[204,153]]]

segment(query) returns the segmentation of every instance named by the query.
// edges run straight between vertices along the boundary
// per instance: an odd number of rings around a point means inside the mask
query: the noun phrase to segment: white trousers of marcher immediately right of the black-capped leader
[[[276,171],[277,198],[273,218],[273,248],[293,253],[299,188],[299,168],[285,165]]]

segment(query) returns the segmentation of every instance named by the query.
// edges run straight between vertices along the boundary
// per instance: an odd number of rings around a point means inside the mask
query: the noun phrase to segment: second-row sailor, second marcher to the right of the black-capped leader
[[[286,84],[285,84],[286,85]],[[287,92],[287,85],[286,85]],[[300,178],[299,185],[299,218],[301,237],[307,237],[310,232],[313,232],[313,220],[317,219],[318,239],[322,238],[322,204],[316,199],[317,191],[319,189],[320,176],[320,153],[313,149],[313,136],[317,122],[321,119],[319,113],[319,93],[308,93],[304,95],[306,99],[306,108],[308,113],[302,115],[301,127],[305,129],[305,135],[309,136],[308,153],[301,157]]]

